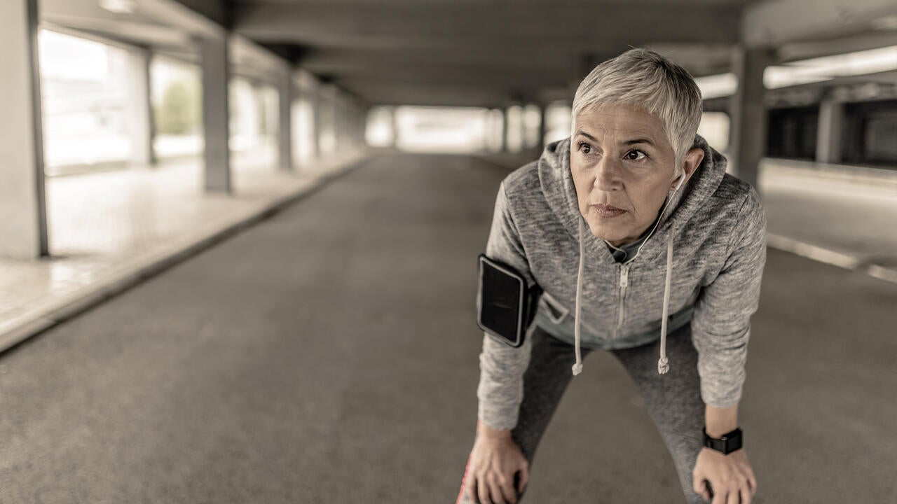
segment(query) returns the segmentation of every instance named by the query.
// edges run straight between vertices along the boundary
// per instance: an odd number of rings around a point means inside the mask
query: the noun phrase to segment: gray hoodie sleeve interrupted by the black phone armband
[[[527,279],[528,285],[535,283],[517,226],[511,217],[504,182],[495,198],[486,256],[513,266]],[[517,425],[519,406],[523,400],[523,374],[529,365],[531,348],[528,335],[519,348],[513,348],[483,333],[480,383],[476,395],[479,399],[479,419],[492,429],[511,430]]]

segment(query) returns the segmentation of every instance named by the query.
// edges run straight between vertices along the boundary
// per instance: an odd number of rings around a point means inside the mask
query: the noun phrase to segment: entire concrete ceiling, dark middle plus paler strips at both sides
[[[192,37],[230,31],[369,104],[570,100],[591,68],[631,47],[700,76],[727,72],[739,43],[777,48],[780,61],[897,44],[893,0],[133,1],[134,13],[39,4],[48,24],[187,60]],[[232,55],[238,73],[272,66],[258,51]]]

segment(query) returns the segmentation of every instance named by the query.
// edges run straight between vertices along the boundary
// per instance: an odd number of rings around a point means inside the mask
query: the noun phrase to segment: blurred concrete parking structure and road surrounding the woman
[[[496,190],[631,47],[767,213],[756,501],[897,501],[893,1],[3,0],[0,41],[0,501],[454,499]],[[593,359],[528,499],[681,500]]]

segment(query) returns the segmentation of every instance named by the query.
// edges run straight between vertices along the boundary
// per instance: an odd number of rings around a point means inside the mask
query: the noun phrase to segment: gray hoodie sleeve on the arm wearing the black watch
[[[723,268],[701,290],[692,317],[704,404],[728,408],[741,400],[751,316],[759,304],[765,264],[766,215],[751,187],[733,223]]]

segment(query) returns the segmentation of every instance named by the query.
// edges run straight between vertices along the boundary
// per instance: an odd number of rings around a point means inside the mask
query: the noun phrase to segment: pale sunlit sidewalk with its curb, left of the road
[[[270,156],[238,156],[231,196],[205,193],[199,160],[47,178],[51,256],[0,258],[0,351],[265,218],[365,155],[292,174]]]

